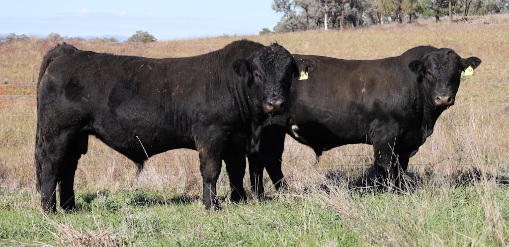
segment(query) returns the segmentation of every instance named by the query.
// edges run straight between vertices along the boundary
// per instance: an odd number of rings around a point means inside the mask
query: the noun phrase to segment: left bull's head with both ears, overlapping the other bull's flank
[[[296,62],[284,47],[273,43],[254,53],[248,59],[239,59],[232,66],[241,76],[249,77],[249,87],[262,97],[261,106],[266,114],[278,114],[285,110],[292,77],[299,68],[313,63],[310,60]]]

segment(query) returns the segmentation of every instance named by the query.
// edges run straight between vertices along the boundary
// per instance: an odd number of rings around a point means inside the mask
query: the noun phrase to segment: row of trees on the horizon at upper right
[[[417,18],[507,13],[509,0],[274,0],[274,32],[344,29]]]

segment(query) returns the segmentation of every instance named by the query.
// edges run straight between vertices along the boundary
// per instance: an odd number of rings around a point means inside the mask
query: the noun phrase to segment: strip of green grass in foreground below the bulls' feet
[[[38,195],[1,189],[0,245],[118,246],[504,246],[509,187],[489,181],[459,187],[424,185],[414,193],[313,191],[276,195],[208,212],[198,197],[167,191],[89,191],[80,209],[45,215]],[[487,191],[489,191],[487,193]],[[487,195],[489,194],[489,195]],[[325,201],[322,200],[327,198]],[[336,200],[337,199],[337,200]],[[337,205],[347,201],[348,205]],[[28,203],[27,203],[28,202]],[[35,202],[37,203],[37,202]],[[348,206],[347,211],[338,208]],[[493,217],[493,206],[499,219]],[[498,232],[497,232],[498,231]],[[101,238],[102,236],[102,238]],[[105,237],[104,237],[105,236]],[[93,242],[90,239],[101,239]]]

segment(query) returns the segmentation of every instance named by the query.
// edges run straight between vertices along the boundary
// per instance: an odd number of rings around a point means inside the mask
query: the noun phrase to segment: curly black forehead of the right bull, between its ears
[[[440,48],[429,54],[426,59],[426,67],[432,73],[454,74],[463,70],[461,57],[449,48]]]

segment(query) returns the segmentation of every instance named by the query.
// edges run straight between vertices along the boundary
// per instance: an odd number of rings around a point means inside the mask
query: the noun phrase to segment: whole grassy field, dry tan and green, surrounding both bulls
[[[505,17],[503,17],[505,18]],[[472,23],[472,22],[471,22]],[[397,56],[417,45],[483,60],[463,77],[456,104],[411,158],[412,190],[374,193],[356,180],[372,148],[325,152],[287,139],[290,191],[232,204],[218,182],[219,212],[201,205],[197,152],[173,150],[134,164],[91,138],[76,172],[78,212],[46,215],[35,191],[35,83],[48,40],[0,44],[0,246],[508,246],[509,25],[413,24],[345,32],[302,32],[137,43],[72,43],[79,49],[154,58],[183,57],[247,38],[293,53],[343,59]],[[248,178],[245,178],[248,185]]]

